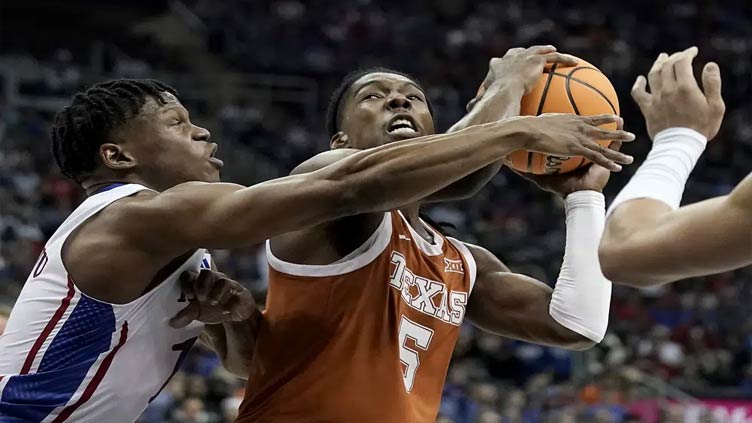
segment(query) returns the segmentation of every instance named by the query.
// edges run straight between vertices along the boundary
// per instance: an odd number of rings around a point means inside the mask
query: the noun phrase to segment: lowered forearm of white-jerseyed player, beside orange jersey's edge
[[[207,324],[201,340],[217,353],[227,371],[247,379],[260,322],[261,313],[257,312],[242,322]]]

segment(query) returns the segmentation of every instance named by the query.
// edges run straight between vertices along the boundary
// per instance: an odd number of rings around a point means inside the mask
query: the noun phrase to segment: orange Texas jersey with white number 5
[[[433,423],[475,282],[459,241],[400,212],[331,265],[274,257],[241,423]]]

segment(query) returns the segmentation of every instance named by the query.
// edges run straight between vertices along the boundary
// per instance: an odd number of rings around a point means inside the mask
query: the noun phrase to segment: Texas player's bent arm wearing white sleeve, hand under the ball
[[[490,252],[468,246],[478,264],[467,307],[473,323],[502,336],[569,349],[587,349],[603,339],[611,283],[598,263],[598,242],[605,221],[600,191],[608,176],[599,166],[562,175],[526,176],[565,197],[567,233],[561,272],[551,289],[510,272]]]

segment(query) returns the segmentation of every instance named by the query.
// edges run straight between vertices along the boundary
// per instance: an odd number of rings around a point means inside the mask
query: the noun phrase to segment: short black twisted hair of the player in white
[[[97,168],[99,147],[112,132],[138,115],[149,97],[164,105],[162,93],[177,91],[153,79],[116,79],[89,87],[73,96],[55,115],[52,153],[62,173],[81,183]]]

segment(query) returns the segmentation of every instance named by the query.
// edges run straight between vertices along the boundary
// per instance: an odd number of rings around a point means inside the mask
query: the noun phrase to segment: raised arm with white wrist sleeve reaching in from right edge
[[[653,147],[609,208],[601,241],[603,271],[614,282],[659,285],[752,264],[752,174],[731,193],[679,207],[690,172],[721,126],[725,106],[718,65],[692,73],[697,48],[661,53],[632,96]]]

